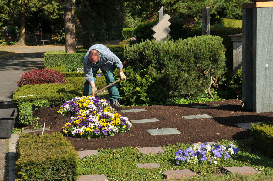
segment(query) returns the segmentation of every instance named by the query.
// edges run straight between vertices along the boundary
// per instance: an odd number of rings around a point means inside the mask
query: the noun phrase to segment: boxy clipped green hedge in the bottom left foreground
[[[79,160],[61,133],[25,134],[17,141],[15,172],[18,181],[76,181]]]

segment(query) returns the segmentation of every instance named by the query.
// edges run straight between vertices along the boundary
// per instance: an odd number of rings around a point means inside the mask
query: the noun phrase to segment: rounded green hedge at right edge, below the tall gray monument
[[[273,157],[273,121],[252,124],[251,136],[254,146],[267,156]]]

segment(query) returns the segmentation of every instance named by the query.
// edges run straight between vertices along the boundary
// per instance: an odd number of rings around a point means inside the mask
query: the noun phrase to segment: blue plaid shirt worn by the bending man
[[[99,51],[99,60],[97,63],[92,64],[89,61],[89,51],[95,49]],[[89,48],[83,59],[83,70],[86,80],[91,82],[94,80],[93,72],[96,72],[101,68],[104,71],[108,71],[112,65],[115,65],[119,70],[122,69],[122,63],[120,59],[109,50],[108,47],[102,44],[95,44]]]

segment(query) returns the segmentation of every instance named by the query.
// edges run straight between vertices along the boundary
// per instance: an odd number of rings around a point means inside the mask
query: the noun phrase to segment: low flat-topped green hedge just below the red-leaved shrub
[[[71,84],[35,84],[18,87],[13,93],[13,101],[16,107],[22,102],[34,102],[35,100],[48,100],[50,107],[59,107],[65,101],[73,99],[76,96],[82,95],[79,94]]]

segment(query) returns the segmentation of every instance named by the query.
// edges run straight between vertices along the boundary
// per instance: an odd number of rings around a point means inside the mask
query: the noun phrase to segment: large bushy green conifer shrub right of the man
[[[159,83],[157,91],[166,98],[197,97],[209,87],[211,76],[225,72],[225,48],[218,36],[190,37],[186,40],[147,40],[126,46],[126,64],[142,76],[146,69]]]

